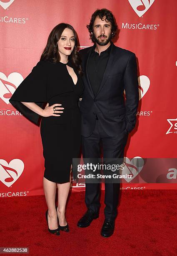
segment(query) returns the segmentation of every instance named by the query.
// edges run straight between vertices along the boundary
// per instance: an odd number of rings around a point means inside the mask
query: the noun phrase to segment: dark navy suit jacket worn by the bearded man
[[[80,103],[82,136],[88,137],[92,134],[95,115],[109,136],[117,136],[125,129],[130,132],[135,127],[139,103],[136,56],[111,42],[103,79],[97,95],[94,95],[87,70],[92,47],[79,51],[84,72],[84,93]]]

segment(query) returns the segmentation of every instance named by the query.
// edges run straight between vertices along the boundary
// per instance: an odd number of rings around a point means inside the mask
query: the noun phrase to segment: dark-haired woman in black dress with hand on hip
[[[83,92],[80,62],[74,28],[60,23],[52,29],[40,61],[10,99],[10,103],[35,124],[42,116],[40,133],[45,158],[46,219],[48,230],[56,235],[60,235],[60,230],[69,231],[65,206],[72,158],[77,158],[80,153],[78,100]],[[47,102],[45,109],[42,108],[44,102]]]

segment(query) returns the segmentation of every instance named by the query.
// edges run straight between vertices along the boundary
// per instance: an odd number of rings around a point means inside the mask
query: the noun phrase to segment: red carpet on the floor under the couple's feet
[[[60,236],[47,231],[44,196],[1,198],[0,247],[29,247],[30,255],[42,256],[177,255],[177,190],[121,192],[116,229],[110,238],[100,236],[104,191],[100,218],[88,228],[77,228],[86,210],[84,192],[70,195],[66,215],[70,233],[60,232]]]

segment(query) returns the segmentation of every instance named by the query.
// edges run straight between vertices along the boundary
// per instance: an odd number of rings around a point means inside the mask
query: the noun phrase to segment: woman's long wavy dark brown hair
[[[81,59],[77,51],[77,44],[78,44],[77,33],[70,24],[60,23],[57,26],[55,26],[55,28],[52,29],[47,40],[47,45],[45,46],[45,49],[42,52],[40,60],[49,60],[54,63],[60,62],[60,54],[58,52],[57,42],[60,40],[60,37],[65,28],[71,29],[75,37],[75,46],[71,55],[68,56],[68,60],[71,62],[74,68],[78,71],[78,73],[82,74]]]

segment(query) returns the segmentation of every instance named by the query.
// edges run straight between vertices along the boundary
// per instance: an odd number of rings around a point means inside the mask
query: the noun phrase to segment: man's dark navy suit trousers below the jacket
[[[125,130],[117,136],[108,136],[96,120],[95,129],[89,137],[82,136],[83,158],[99,159],[101,148],[103,159],[119,158],[123,160],[124,148],[127,143],[128,132]],[[105,182],[105,218],[114,220],[117,215],[120,183]],[[85,204],[93,212],[100,209],[100,183],[85,184]]]

